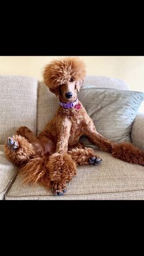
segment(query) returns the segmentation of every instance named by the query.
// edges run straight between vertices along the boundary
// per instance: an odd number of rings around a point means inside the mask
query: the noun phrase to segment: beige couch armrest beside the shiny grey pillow
[[[132,143],[144,150],[144,114],[137,114],[131,129]]]

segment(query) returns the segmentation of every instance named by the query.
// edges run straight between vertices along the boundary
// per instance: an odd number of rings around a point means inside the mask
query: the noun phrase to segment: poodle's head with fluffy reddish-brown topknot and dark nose
[[[77,90],[81,88],[85,76],[85,64],[77,57],[53,60],[46,65],[43,73],[46,86],[51,92],[59,95],[63,103],[76,100]]]

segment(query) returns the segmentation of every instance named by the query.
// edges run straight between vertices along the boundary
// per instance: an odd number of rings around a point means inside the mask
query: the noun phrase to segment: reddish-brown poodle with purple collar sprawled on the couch
[[[101,150],[123,161],[144,165],[144,151],[132,144],[114,144],[96,131],[82,103],[77,99],[86,75],[85,65],[78,58],[54,60],[45,67],[44,81],[59,96],[55,117],[36,137],[27,127],[20,127],[5,144],[7,158],[21,167],[26,183],[52,187],[54,194],[63,195],[66,183],[76,175],[76,166],[101,164],[102,159],[92,148],[79,143],[81,136]]]

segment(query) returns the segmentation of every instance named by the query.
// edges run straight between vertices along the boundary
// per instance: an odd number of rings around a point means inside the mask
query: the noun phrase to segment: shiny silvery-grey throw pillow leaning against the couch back
[[[144,100],[143,92],[90,86],[82,88],[78,97],[100,134],[113,142],[131,142],[131,126]],[[81,141],[92,147],[85,137]]]

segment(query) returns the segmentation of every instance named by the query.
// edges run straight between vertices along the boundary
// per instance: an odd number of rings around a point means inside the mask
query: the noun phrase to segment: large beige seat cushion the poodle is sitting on
[[[115,159],[96,150],[103,158],[101,166],[79,166],[77,176],[68,183],[65,196],[53,196],[39,185],[23,186],[18,175],[5,196],[6,200],[120,200],[144,199],[144,167]]]

